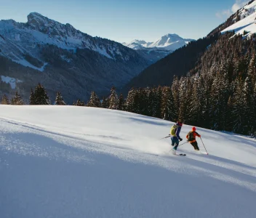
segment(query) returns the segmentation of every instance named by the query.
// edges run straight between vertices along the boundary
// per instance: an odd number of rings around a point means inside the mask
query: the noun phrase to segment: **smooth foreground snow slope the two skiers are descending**
[[[198,128],[209,156],[188,144],[173,156],[159,140],[171,125],[102,108],[0,105],[0,217],[255,217],[255,140]]]

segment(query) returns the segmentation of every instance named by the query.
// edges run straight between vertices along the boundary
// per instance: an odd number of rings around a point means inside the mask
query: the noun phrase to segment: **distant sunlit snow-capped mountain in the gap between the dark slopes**
[[[124,46],[135,49],[140,55],[151,62],[156,62],[161,58],[174,52],[176,49],[187,45],[193,39],[183,39],[177,34],[167,34],[154,42],[143,40],[133,40],[130,43],[123,43]]]

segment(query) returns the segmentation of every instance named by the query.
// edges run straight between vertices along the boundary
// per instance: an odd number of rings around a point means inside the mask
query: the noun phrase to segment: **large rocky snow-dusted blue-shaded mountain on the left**
[[[133,49],[36,12],[27,23],[0,21],[0,78],[17,81],[15,89],[25,98],[41,82],[51,97],[60,91],[68,102],[87,100],[92,91],[103,95],[124,86],[149,64]],[[13,93],[11,86],[0,90]]]

